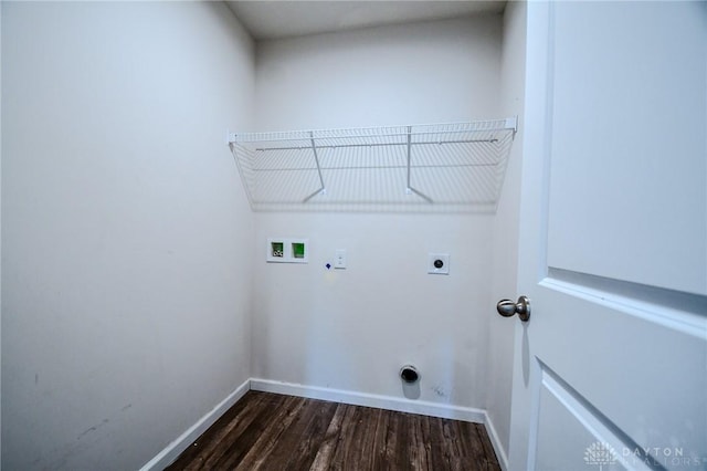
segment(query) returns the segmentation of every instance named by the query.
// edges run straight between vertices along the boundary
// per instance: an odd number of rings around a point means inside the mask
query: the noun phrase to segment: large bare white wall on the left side
[[[2,465],[136,469],[250,376],[222,3],[2,2]]]

